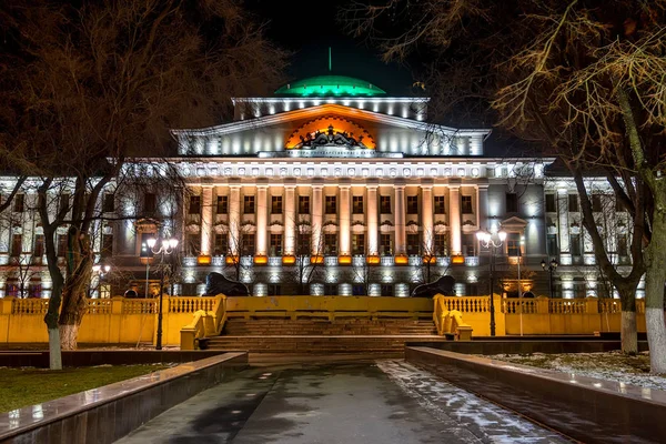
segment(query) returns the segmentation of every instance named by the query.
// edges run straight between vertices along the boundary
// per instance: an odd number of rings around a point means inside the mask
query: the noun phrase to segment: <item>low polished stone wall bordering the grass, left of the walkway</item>
[[[112,443],[246,363],[246,353],[226,353],[2,413],[0,442]]]

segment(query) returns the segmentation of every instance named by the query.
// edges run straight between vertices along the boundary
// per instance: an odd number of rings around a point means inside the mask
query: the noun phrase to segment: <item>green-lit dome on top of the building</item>
[[[383,95],[381,88],[364,80],[345,75],[317,75],[296,80],[278,89],[275,94],[299,97],[329,97],[329,95]]]

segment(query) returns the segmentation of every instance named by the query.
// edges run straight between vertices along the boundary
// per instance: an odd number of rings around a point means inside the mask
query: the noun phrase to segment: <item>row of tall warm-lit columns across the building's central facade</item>
[[[268,255],[268,184],[258,185],[256,190],[256,255]],[[352,202],[351,185],[341,184],[340,188],[340,218],[339,218],[339,242],[340,254],[349,255],[352,251],[351,245],[351,221]],[[379,255],[380,253],[380,221],[379,221],[379,185],[366,185],[367,204],[365,221],[367,225],[367,253],[369,255]],[[405,185],[396,184],[395,188],[395,254],[406,253],[406,208],[405,208]],[[236,251],[241,228],[241,185],[230,185],[229,199],[229,230],[230,249]],[[293,255],[295,253],[295,185],[285,185],[284,192],[284,254]],[[433,185],[421,185],[422,206],[421,220],[424,233],[424,249],[434,251],[434,212],[433,212]],[[461,203],[460,185],[448,185],[448,228],[451,232],[451,254],[461,254]],[[213,185],[203,186],[202,191],[202,224],[201,224],[201,254],[211,254],[212,228],[213,228]],[[487,212],[487,188],[478,188],[478,218],[485,220]],[[321,242],[323,230],[323,185],[312,185],[312,205],[311,205],[311,226],[312,226],[312,254],[322,255],[323,242]]]

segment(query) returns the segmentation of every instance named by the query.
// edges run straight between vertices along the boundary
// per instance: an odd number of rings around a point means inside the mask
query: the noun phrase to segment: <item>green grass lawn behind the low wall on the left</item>
[[[167,369],[169,365],[114,365],[42,369],[0,369],[0,412],[39,404]]]

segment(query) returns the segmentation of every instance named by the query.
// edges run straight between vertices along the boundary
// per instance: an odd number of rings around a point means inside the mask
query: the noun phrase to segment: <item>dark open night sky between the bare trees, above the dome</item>
[[[291,79],[326,74],[329,47],[333,73],[366,80],[396,95],[410,94],[412,73],[397,63],[385,64],[379,51],[346,36],[336,21],[340,6],[347,0],[246,0],[261,20],[268,21],[266,37],[294,52]]]

